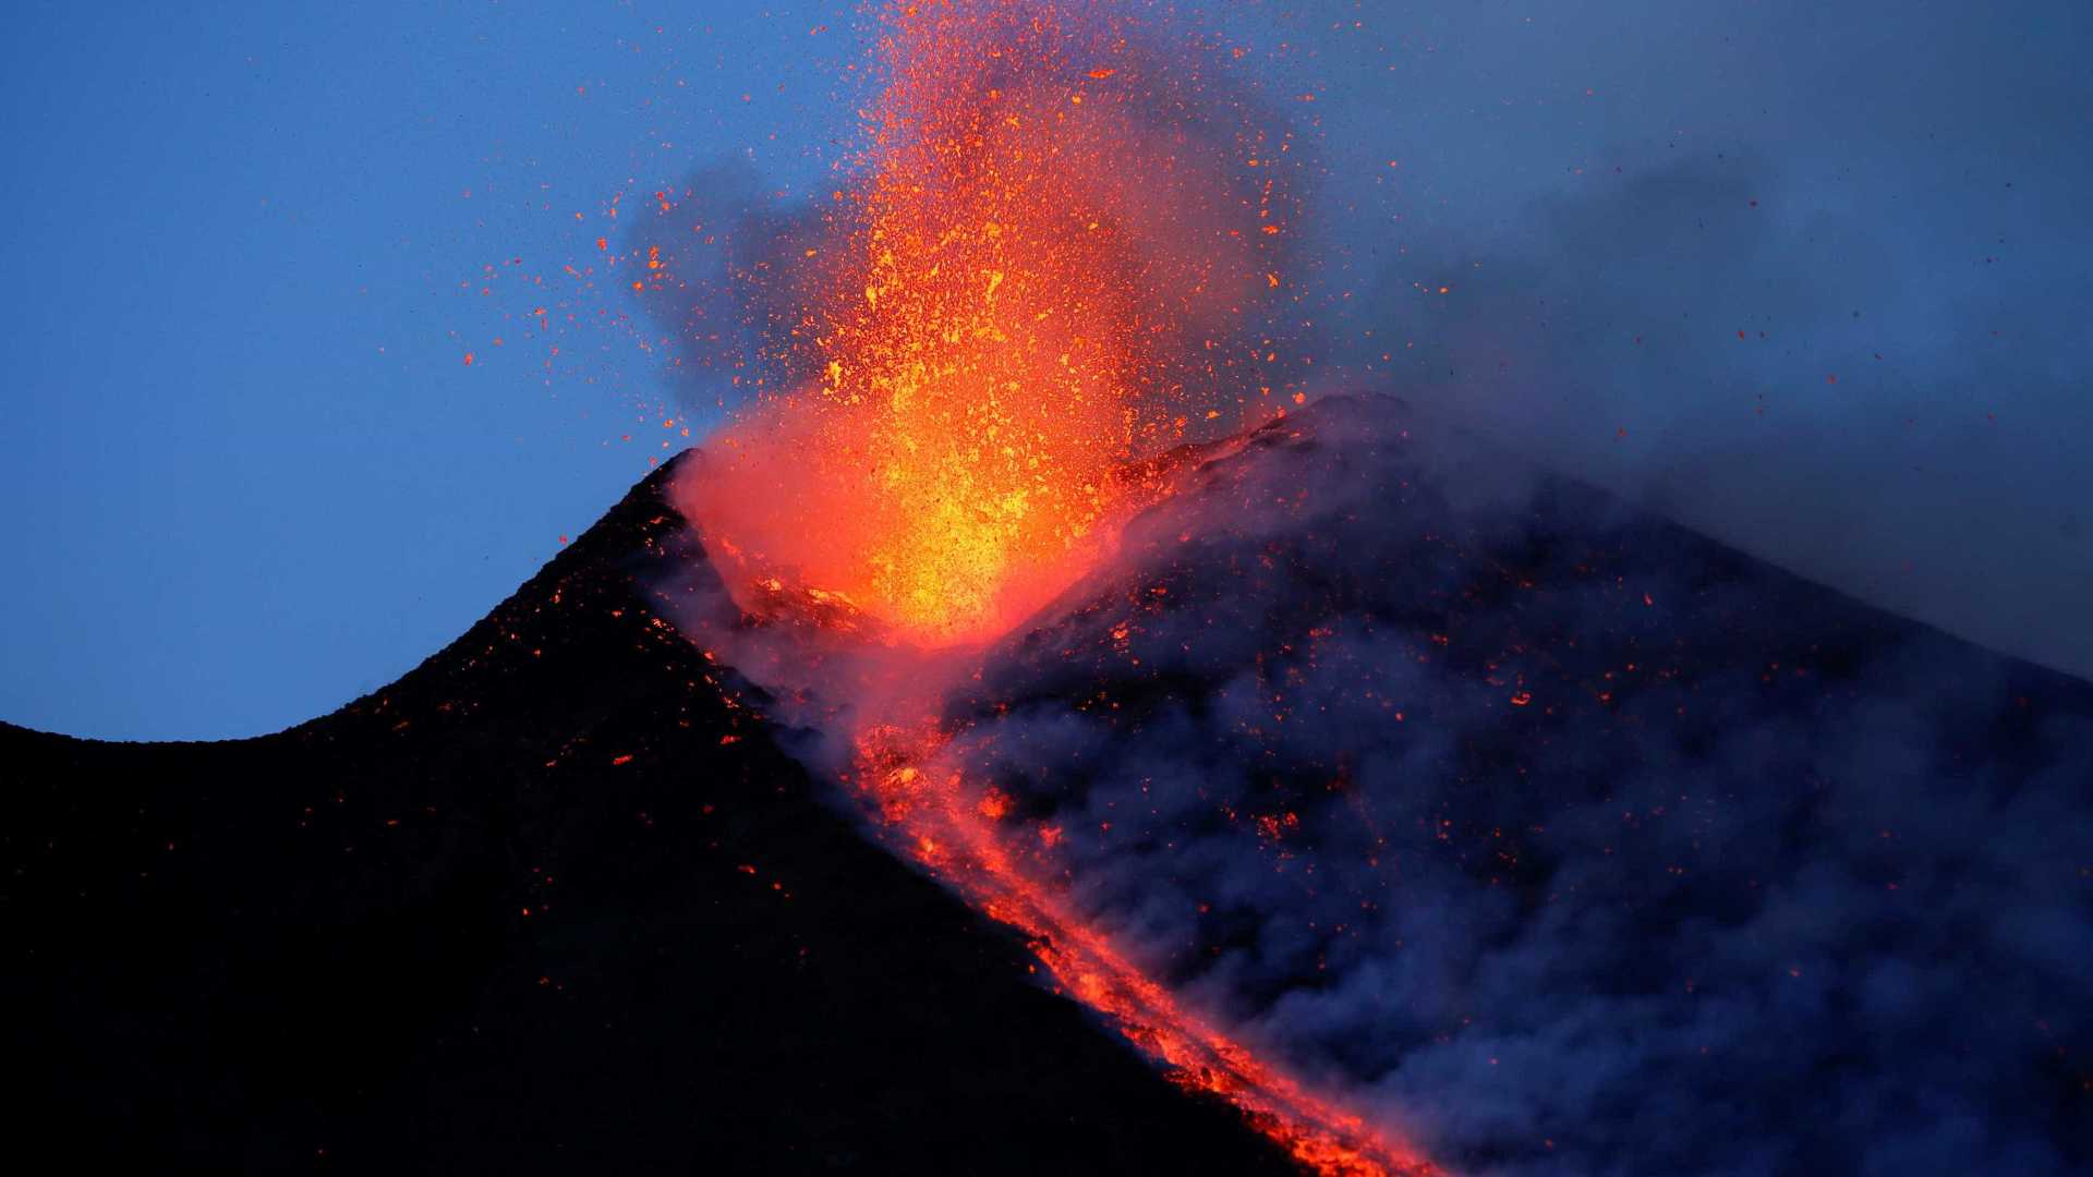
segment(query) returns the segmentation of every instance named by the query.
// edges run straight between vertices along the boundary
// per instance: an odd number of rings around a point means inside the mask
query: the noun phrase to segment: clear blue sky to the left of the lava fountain
[[[0,50],[0,718],[262,733],[412,668],[647,473],[655,358],[586,323],[630,299],[555,279],[599,264],[613,197],[693,159],[820,176],[839,132],[810,46],[850,25],[128,8],[17,8]],[[563,297],[584,323],[548,373],[519,318]]]

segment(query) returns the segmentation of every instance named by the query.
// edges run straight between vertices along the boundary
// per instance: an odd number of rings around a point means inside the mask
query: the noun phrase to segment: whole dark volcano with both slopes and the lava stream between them
[[[869,760],[831,670],[890,639],[726,584],[701,475],[333,716],[0,731],[27,1131],[264,1169],[2093,1164],[2087,683],[1325,398],[1180,452]]]

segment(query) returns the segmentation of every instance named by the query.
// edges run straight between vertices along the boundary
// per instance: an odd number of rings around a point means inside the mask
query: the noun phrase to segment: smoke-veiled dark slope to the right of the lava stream
[[[925,779],[1453,1171],[2093,1162],[2083,683],[1346,398],[944,681]]]

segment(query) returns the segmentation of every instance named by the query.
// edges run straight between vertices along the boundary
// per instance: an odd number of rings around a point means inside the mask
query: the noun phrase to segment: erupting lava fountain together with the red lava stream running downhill
[[[797,385],[716,436],[676,503],[741,614],[699,635],[890,840],[1187,1087],[1323,1173],[1425,1173],[1187,1012],[1032,878],[992,790],[940,762],[944,674],[1109,553],[1157,454],[1268,415],[1291,140],[1101,4],[883,13],[871,149],[793,241],[768,360]],[[1183,57],[1183,54],[1180,54]],[[1218,113],[1216,113],[1218,111]],[[1241,394],[1235,390],[1254,390]],[[1132,471],[1132,473],[1128,473]]]

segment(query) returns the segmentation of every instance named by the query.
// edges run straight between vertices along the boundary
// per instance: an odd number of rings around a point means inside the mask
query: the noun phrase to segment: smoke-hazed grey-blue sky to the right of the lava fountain
[[[2093,674],[2093,10],[1302,13],[1342,362],[1725,542]],[[1371,335],[1369,335],[1371,333]],[[1741,337],[1739,337],[1741,333]]]

